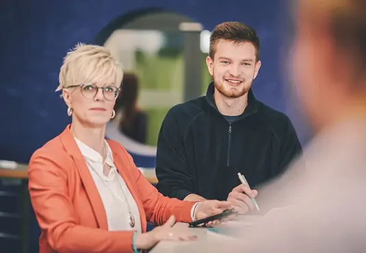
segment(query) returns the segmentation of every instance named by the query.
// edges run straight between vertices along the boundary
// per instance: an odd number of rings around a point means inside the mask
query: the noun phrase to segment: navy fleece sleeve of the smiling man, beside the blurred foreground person
[[[279,171],[285,171],[293,160],[302,154],[302,147],[298,139],[298,134],[291,123],[291,120],[286,117],[283,138],[280,143],[280,166]]]

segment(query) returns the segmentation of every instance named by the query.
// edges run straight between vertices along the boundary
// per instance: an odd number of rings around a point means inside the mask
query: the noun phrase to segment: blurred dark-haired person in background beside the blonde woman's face
[[[147,115],[138,108],[138,77],[132,73],[123,76],[122,93],[116,99],[114,110],[118,128],[129,138],[145,143]],[[116,120],[114,119],[114,120]]]

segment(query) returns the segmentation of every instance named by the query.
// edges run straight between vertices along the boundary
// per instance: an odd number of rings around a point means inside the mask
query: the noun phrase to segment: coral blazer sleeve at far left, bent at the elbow
[[[48,154],[48,153],[47,153]],[[68,159],[49,158],[36,152],[29,162],[31,204],[42,233],[56,252],[133,252],[133,232],[107,231],[79,226],[68,195]]]

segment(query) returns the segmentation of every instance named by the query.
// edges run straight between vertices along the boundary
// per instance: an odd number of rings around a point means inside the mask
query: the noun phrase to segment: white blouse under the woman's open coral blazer
[[[101,154],[77,138],[75,138],[75,141],[86,160],[99,195],[101,195],[107,215],[108,230],[135,230],[142,232],[138,205],[133,199],[125,180],[120,176],[114,165],[112,150],[107,141],[105,141],[105,151],[107,152],[105,163],[111,167],[108,176],[105,176],[103,173],[103,158]],[[130,211],[135,219],[135,226],[133,228],[129,224]]]

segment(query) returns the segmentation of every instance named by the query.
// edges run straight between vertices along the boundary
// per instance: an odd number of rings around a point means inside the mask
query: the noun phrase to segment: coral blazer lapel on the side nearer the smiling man
[[[133,185],[134,182],[132,181],[132,178],[129,177],[129,175],[127,173],[127,168],[130,167],[131,165],[126,162],[127,159],[123,159],[121,157],[121,155],[118,154],[118,152],[116,152],[116,150],[114,149],[113,145],[111,145],[111,143],[108,143],[108,144],[109,144],[109,147],[111,147],[112,152],[113,152],[114,165],[116,165],[118,173],[120,173],[120,176],[123,178],[123,180],[125,180],[127,188],[131,192],[131,195],[133,196],[133,199],[135,200],[136,204],[138,205],[138,210],[139,210],[139,213],[140,213],[140,221],[141,221],[141,226],[142,226],[142,232],[146,232],[147,221],[146,221],[146,214],[145,214],[145,210],[144,210],[144,205],[142,204],[142,201],[141,201],[140,197],[138,196],[138,193],[137,193],[137,191],[136,191],[136,189]]]

